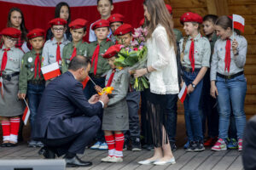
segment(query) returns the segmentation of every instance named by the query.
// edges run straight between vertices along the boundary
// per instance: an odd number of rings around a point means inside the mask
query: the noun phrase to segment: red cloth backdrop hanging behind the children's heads
[[[46,0],[34,0],[36,4],[40,1]],[[73,2],[77,0],[55,0],[53,1],[54,4],[60,2],[66,2],[71,6],[71,20],[75,20],[77,18],[84,18],[88,20],[90,23],[94,22],[95,20],[100,19],[100,14],[97,12],[96,5],[94,6],[87,6],[86,1],[88,4],[91,4],[91,0],[84,0],[83,6],[75,6],[73,7]],[[96,2],[96,0],[93,0]],[[112,14],[119,13],[125,16],[125,23],[131,24],[134,27],[138,27],[139,21],[143,19],[143,0],[119,0],[121,2],[115,3],[117,1],[113,0],[113,12]],[[14,3],[15,2],[15,3]],[[6,23],[8,20],[8,13],[9,9],[13,7],[20,8],[24,14],[26,28],[28,30],[32,30],[33,28],[42,28],[47,30],[49,28],[48,22],[49,20],[54,19],[55,17],[55,5],[52,3],[47,6],[36,6],[36,5],[28,5],[26,2],[27,0],[0,0],[0,30],[3,30],[6,27]],[[45,3],[45,2],[44,2]],[[85,4],[85,5],[84,5]],[[89,35],[89,26],[87,29],[87,36],[85,40],[88,40]]]

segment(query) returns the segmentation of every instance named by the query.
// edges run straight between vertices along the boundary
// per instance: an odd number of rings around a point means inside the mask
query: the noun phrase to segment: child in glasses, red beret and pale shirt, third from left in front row
[[[61,68],[61,56],[65,45],[69,42],[64,37],[64,32],[66,31],[67,21],[61,18],[56,18],[49,21],[51,26],[51,31],[54,37],[44,44],[43,48],[43,63],[42,66],[50,65],[52,63],[58,62]]]

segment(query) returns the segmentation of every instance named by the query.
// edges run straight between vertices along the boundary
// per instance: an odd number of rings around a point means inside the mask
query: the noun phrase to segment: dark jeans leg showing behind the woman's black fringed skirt
[[[166,132],[170,143],[175,143],[177,127],[177,94],[166,94]]]

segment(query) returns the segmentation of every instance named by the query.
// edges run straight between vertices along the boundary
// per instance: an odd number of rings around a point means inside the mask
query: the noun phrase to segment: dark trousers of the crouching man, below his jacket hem
[[[91,119],[95,122],[91,127],[85,129],[82,133],[74,134],[62,139],[40,139],[46,147],[55,151],[57,156],[67,154],[84,154],[85,146],[92,142],[96,137],[96,133],[101,127],[101,121],[98,116],[93,116]]]

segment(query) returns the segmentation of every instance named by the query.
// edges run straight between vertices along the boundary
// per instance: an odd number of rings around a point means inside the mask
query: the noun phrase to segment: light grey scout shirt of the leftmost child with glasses
[[[3,47],[0,50],[0,67],[2,65],[4,48],[5,46],[3,45]],[[23,55],[24,53],[19,48],[10,48],[10,50],[7,52],[8,60],[3,71],[3,75],[9,75],[15,72],[20,72],[21,59]]]

